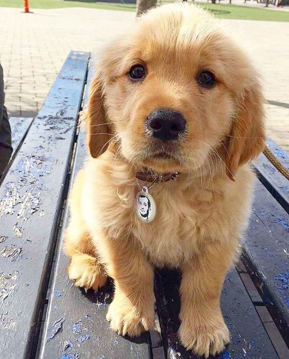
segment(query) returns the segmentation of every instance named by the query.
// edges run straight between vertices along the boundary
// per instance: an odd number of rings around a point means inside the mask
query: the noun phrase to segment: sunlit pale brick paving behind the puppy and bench
[[[129,26],[134,13],[69,8],[0,8],[0,60],[10,115],[33,116],[71,49],[94,51]],[[289,151],[289,23],[220,20],[251,54],[264,79],[267,132]]]

